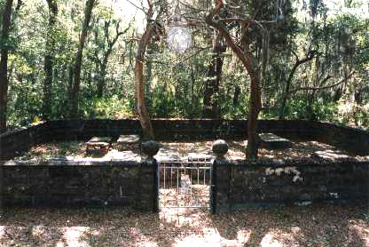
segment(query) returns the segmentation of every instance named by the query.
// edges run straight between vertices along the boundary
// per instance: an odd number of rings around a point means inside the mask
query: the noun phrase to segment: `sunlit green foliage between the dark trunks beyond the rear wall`
[[[283,26],[277,24],[268,29],[269,52],[263,72],[261,117],[280,117],[286,97],[283,116],[287,119],[313,119],[367,128],[369,19],[367,14],[354,12],[361,8],[367,13],[365,1],[349,1],[350,8],[342,4],[338,12],[330,9],[326,1],[284,2],[285,14],[290,18]],[[57,3],[59,13],[52,33],[55,60],[51,119],[69,117],[71,69],[84,7],[84,1],[58,0]],[[2,8],[4,1],[0,4]],[[78,112],[82,118],[135,116],[133,66],[142,24],[115,11],[115,7],[101,1],[92,13],[82,60]],[[51,52],[45,51],[49,14],[45,1],[24,1],[19,12],[14,10],[11,37],[1,42],[10,50],[7,112],[10,128],[43,120],[43,62],[45,52]],[[125,28],[127,32],[117,39],[106,60],[106,71],[102,71],[101,62],[109,41],[118,30]],[[202,117],[204,83],[212,57],[211,34],[205,28],[193,27],[192,49],[182,55],[171,52],[162,37],[149,45],[144,74],[145,97],[151,116]],[[265,36],[255,34],[256,56],[262,49],[263,38]],[[219,102],[221,117],[246,118],[249,79],[230,49],[222,56],[222,80],[219,92],[213,97]],[[299,64],[292,73],[296,59],[308,57],[312,58]],[[98,87],[102,79],[101,97]],[[337,84],[339,82],[342,83]],[[337,85],[330,87],[333,84]]]

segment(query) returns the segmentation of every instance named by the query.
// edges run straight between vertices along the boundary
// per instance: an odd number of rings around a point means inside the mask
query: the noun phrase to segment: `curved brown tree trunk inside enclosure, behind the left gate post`
[[[147,44],[150,43],[153,36],[153,26],[150,23],[153,15],[152,8],[147,15],[147,24],[145,33],[141,37],[137,47],[136,64],[135,64],[135,84],[137,99],[137,114],[141,123],[142,131],[145,139],[153,139],[153,125],[145,105],[145,85],[144,85],[144,56]]]

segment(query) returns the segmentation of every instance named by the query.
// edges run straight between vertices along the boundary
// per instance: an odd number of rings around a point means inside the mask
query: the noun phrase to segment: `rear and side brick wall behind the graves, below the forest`
[[[158,140],[247,139],[245,120],[169,120],[154,119],[153,130]],[[298,136],[315,139],[357,155],[369,155],[369,133],[357,129],[300,120],[260,120],[259,132],[273,132],[282,137]],[[0,134],[0,159],[8,160],[29,147],[58,140],[87,140],[92,136],[141,134],[138,120],[59,120],[39,123],[18,131]]]

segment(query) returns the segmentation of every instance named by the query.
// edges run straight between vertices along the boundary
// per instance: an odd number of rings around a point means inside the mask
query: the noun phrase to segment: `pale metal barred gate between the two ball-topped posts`
[[[211,156],[159,163],[159,208],[210,208]]]

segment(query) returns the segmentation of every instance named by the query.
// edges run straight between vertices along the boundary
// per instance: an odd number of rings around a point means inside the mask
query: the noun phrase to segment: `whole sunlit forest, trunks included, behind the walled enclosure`
[[[237,2],[264,20],[263,28],[248,29],[260,75],[259,119],[369,127],[366,1],[228,2],[224,10]],[[214,7],[153,1],[155,26],[143,59],[151,117],[247,119],[250,78],[207,25]],[[137,117],[135,60],[147,8],[126,0],[0,0],[0,131],[48,119]],[[173,13],[191,31],[186,52],[169,49]],[[240,24],[227,25],[232,37],[242,36]]]

